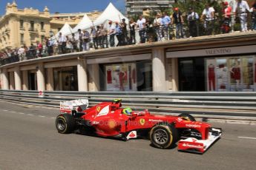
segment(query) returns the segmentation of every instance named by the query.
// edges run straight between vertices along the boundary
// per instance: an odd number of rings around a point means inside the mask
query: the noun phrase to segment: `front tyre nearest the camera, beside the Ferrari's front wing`
[[[159,149],[168,149],[178,140],[177,129],[171,124],[158,124],[151,129],[151,143]]]

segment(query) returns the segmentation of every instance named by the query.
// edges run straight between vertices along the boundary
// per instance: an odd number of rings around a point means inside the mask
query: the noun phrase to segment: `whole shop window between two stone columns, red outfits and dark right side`
[[[106,91],[151,91],[150,62],[100,65],[100,89]],[[102,81],[104,80],[104,81]]]

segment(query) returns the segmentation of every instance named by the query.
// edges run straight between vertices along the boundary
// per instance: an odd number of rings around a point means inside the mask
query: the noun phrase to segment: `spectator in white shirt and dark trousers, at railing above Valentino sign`
[[[203,27],[205,28],[206,35],[211,35],[214,28],[214,8],[206,4],[206,8],[203,10],[201,18],[204,19]]]

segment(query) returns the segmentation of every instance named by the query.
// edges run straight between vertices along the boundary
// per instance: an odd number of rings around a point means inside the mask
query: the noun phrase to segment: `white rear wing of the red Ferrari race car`
[[[83,110],[87,109],[89,101],[87,99],[77,99],[73,101],[61,101],[59,108],[61,113],[81,113]]]

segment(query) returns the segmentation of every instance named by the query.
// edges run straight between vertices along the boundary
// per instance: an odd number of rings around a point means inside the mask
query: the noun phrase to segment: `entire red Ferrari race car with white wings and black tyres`
[[[153,146],[168,149],[178,142],[178,150],[203,154],[222,135],[222,130],[209,123],[195,121],[188,114],[152,115],[122,108],[121,100],[103,102],[88,108],[88,100],[60,103],[56,118],[59,133],[82,132],[99,137],[129,140],[148,137]]]

